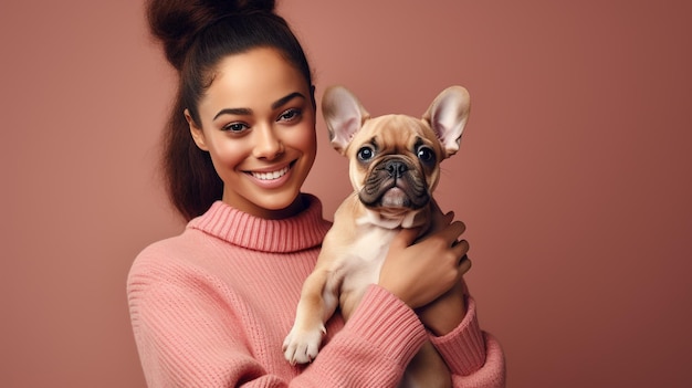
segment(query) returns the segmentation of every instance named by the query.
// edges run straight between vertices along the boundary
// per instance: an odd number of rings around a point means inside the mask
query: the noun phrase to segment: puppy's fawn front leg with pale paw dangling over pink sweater
[[[293,328],[283,343],[284,357],[292,364],[311,363],[319,352],[324,324],[334,314],[337,284],[326,269],[316,269],[303,284]]]

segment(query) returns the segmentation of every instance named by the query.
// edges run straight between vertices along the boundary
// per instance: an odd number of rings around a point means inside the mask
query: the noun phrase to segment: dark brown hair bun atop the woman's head
[[[180,70],[195,35],[214,21],[231,15],[274,12],[275,0],[149,0],[146,14],[154,38],[164,44],[166,59]]]

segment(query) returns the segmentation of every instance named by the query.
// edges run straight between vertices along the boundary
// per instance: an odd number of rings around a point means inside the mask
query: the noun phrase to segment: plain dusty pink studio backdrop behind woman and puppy
[[[441,205],[510,387],[686,387],[692,7],[685,1],[319,1],[281,11],[370,113],[471,92]],[[157,180],[171,73],[141,4],[0,4],[2,387],[144,387],[125,277],[182,224]],[[346,161],[318,125],[331,218]]]

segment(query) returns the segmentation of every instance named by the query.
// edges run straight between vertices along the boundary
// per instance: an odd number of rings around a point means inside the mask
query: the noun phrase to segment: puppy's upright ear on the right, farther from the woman
[[[466,126],[470,108],[469,91],[461,86],[450,86],[434,98],[423,115],[423,120],[428,122],[440,139],[444,158],[459,150],[461,133]]]

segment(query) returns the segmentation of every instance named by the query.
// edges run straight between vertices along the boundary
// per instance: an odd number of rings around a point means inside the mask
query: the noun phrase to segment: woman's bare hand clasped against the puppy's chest
[[[447,301],[447,293],[460,284],[460,279],[471,263],[465,259],[469,243],[458,240],[464,232],[461,221],[452,222],[452,212],[442,214],[433,211],[431,231],[419,242],[416,238],[419,229],[405,229],[392,240],[389,253],[385,259],[379,276],[379,285],[403,301],[411,308],[426,306],[424,310],[437,311],[429,305],[445,295],[443,305],[457,300]],[[457,295],[457,292],[452,293]],[[442,303],[442,301],[440,301]],[[463,300],[461,306],[463,307]],[[442,304],[440,307],[443,307]],[[423,314],[428,316],[429,314]],[[463,315],[462,315],[463,317]],[[422,319],[422,318],[421,318]],[[430,324],[437,319],[426,318]],[[423,324],[428,323],[423,321]]]

